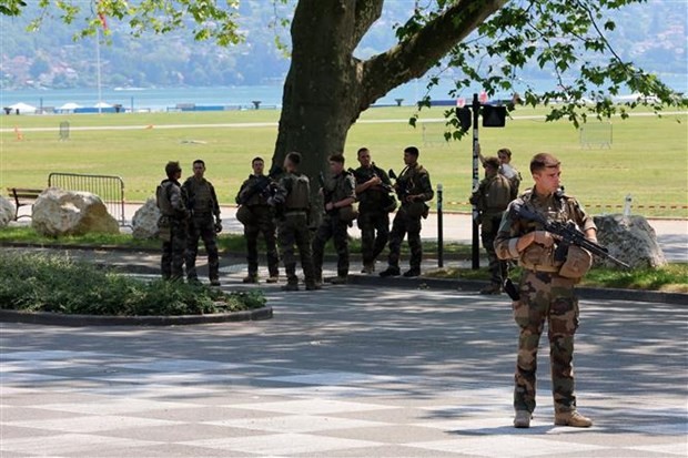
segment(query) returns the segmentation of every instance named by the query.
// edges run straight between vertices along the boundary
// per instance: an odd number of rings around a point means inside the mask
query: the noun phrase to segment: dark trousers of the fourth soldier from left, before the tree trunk
[[[306,285],[315,284],[313,259],[311,257],[308,216],[305,212],[292,214],[287,212],[284,217],[277,222],[277,243],[280,244],[287,283],[291,285],[299,284],[299,277],[296,276],[296,256],[294,255],[295,245],[301,256],[301,268],[303,268]]]

